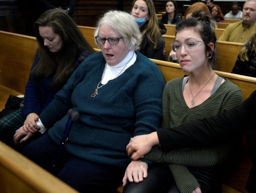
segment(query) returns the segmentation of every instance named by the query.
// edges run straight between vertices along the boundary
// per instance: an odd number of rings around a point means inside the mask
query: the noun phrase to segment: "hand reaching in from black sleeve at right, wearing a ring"
[[[143,158],[148,153],[153,145],[159,144],[157,132],[147,135],[137,135],[132,138],[126,146],[127,153],[132,160]]]

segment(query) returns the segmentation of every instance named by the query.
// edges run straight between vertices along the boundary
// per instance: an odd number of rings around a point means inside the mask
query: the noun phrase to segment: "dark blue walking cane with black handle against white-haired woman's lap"
[[[56,159],[55,159],[55,162],[53,163],[53,171],[57,171],[57,166],[58,166],[58,162],[59,162],[59,159],[61,157],[61,154],[64,152],[65,150],[65,146],[66,146],[66,143],[67,143],[67,140],[68,140],[68,132],[71,128],[71,125],[72,125],[72,121],[73,122],[76,122],[79,120],[79,112],[76,111],[76,110],[73,110],[72,108],[68,110],[68,122],[66,124],[66,128],[63,132],[63,135],[62,135],[62,138],[61,138],[61,144],[59,146],[59,149],[58,149],[58,154],[56,156]]]

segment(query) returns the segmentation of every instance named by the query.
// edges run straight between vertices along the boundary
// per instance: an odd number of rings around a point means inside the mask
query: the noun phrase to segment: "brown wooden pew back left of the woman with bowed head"
[[[24,93],[38,44],[34,37],[0,31],[0,84]]]

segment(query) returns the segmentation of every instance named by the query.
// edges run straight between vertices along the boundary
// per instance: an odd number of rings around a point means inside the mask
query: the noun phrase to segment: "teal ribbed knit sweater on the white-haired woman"
[[[80,113],[68,136],[66,150],[94,163],[126,167],[131,137],[160,128],[165,80],[157,65],[135,52],[137,60],[116,79],[99,88],[106,61],[101,52],[90,55],[41,113],[50,138],[60,143],[68,109]],[[54,124],[55,123],[55,124]],[[54,126],[53,126],[54,124]]]

